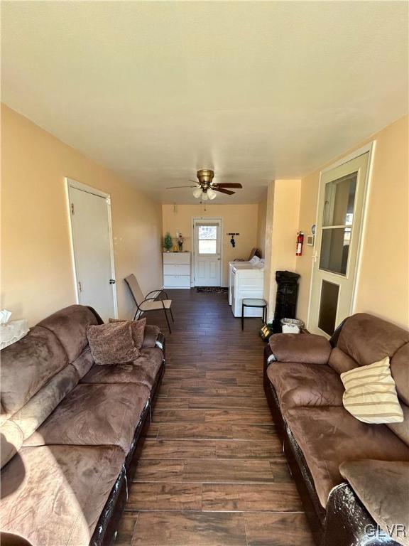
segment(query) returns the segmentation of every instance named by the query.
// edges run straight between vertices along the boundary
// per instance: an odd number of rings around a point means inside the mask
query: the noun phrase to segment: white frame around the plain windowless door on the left
[[[80,304],[80,291],[78,286],[78,276],[77,276],[77,259],[75,257],[75,246],[74,246],[74,232],[72,225],[72,214],[71,214],[71,188],[76,190],[85,191],[91,193],[94,196],[102,197],[107,203],[107,213],[108,213],[108,230],[109,230],[109,256],[111,258],[111,279],[116,279],[115,275],[115,260],[114,260],[114,238],[112,235],[112,217],[111,217],[111,196],[109,193],[88,186],[82,182],[78,182],[73,178],[65,177],[65,188],[67,193],[67,213],[70,223],[70,243],[71,243],[71,257],[72,257],[72,271],[74,273],[74,287],[75,287],[75,301],[77,304]],[[118,300],[116,298],[116,283],[111,284],[112,296],[114,299],[114,319],[118,318]]]

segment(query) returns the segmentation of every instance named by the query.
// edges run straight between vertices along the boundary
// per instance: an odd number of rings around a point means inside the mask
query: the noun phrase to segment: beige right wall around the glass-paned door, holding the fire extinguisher
[[[371,185],[362,241],[354,312],[366,311],[409,326],[408,306],[408,116],[345,152],[375,140]],[[341,156],[342,157],[342,156]],[[337,161],[335,158],[327,165]],[[315,223],[320,170],[302,178],[299,229]],[[310,296],[312,247],[296,259],[301,275],[298,316],[306,321]]]

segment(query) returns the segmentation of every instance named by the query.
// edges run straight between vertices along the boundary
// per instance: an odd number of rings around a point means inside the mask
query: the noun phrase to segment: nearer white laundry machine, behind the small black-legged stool
[[[241,262],[242,263],[242,262]],[[264,268],[247,265],[231,268],[231,312],[241,316],[241,302],[244,298],[263,298]],[[263,309],[246,307],[244,316],[263,316]]]

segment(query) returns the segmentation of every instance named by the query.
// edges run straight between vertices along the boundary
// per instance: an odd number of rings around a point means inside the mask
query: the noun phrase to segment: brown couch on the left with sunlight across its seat
[[[1,351],[1,544],[111,544],[165,369],[146,326],[141,357],[97,366],[91,308],[62,309]],[[28,541],[28,542],[25,542]]]

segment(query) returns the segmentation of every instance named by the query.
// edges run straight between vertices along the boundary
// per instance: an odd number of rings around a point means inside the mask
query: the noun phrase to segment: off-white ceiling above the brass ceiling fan
[[[253,203],[408,109],[405,1],[10,1],[2,100],[165,203]],[[86,181],[84,181],[86,182]]]

